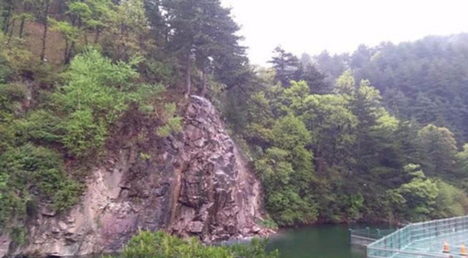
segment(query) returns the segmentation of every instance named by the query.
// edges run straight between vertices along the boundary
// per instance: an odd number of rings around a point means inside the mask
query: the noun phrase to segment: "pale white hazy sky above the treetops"
[[[468,32],[468,0],[221,0],[242,26],[252,63],[281,45],[294,54],[353,52],[382,41]]]

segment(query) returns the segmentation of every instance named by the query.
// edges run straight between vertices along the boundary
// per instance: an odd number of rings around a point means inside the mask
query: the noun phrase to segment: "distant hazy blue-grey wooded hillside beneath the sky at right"
[[[392,114],[421,124],[446,126],[466,141],[468,34],[428,36],[412,43],[360,45],[353,53],[323,52],[302,63],[314,63],[333,84],[345,70],[369,79]]]

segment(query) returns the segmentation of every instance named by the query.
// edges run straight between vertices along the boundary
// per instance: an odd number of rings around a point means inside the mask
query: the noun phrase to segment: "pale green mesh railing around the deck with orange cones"
[[[367,257],[395,257],[402,254],[404,257],[446,257],[441,254],[442,246],[437,252],[431,252],[430,246],[426,248],[427,251],[409,251],[405,248],[414,243],[467,231],[468,216],[414,223],[368,245]]]

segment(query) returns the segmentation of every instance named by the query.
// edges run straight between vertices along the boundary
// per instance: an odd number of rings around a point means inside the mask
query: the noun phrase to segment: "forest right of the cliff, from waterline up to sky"
[[[272,70],[256,70],[247,105],[228,104],[227,114],[262,176],[272,218],[298,225],[465,214],[467,50],[465,34],[334,56],[298,58],[277,47]]]

